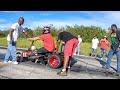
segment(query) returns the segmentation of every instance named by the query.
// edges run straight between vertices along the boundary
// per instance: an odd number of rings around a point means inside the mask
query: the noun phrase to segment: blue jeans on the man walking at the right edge
[[[117,56],[117,71],[120,72],[120,51],[115,51],[112,48],[109,50],[106,66],[108,69],[110,68],[111,60],[114,54]]]

